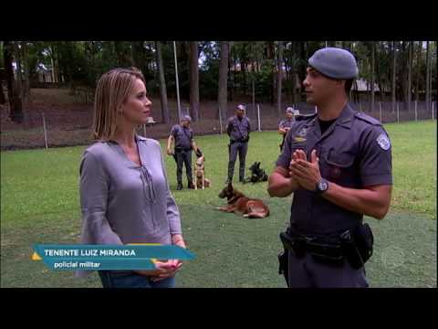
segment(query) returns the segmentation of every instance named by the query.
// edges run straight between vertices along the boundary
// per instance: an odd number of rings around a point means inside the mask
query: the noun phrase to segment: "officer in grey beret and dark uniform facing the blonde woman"
[[[391,142],[381,122],[349,106],[357,76],[347,50],[308,59],[304,87],[318,113],[296,118],[269,177],[270,196],[294,193],[282,239],[289,287],[368,287],[372,233],[362,219],[384,218],[390,207]]]

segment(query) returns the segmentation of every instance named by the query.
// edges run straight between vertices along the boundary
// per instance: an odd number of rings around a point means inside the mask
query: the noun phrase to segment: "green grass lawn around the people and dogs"
[[[385,128],[392,142],[394,186],[387,218],[366,218],[376,240],[367,263],[370,285],[436,287],[436,122],[391,123]],[[269,198],[266,183],[235,184],[245,194],[265,199],[271,216],[246,219],[214,210],[224,204],[217,194],[226,178],[227,139],[216,135],[196,141],[206,156],[211,188],[176,191],[175,163],[166,156],[184,238],[197,256],[185,263],[178,285],[284,287],[284,279],[277,275],[276,253],[281,249],[278,233],[287,226],[291,198]],[[253,133],[246,166],[261,161],[270,172],[278,143],[275,132]],[[1,154],[2,287],[100,286],[97,274],[78,280],[72,272],[48,271],[42,262],[30,260],[34,243],[78,242],[78,164],[84,149]]]

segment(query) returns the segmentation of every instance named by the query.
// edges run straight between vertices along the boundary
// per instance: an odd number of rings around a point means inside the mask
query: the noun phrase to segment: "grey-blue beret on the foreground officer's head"
[[[359,69],[354,56],[341,48],[322,48],[308,58],[308,64],[331,79],[349,80],[358,77]]]

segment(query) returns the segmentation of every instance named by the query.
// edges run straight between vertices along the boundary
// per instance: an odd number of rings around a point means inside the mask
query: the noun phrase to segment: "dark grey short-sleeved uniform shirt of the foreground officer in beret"
[[[317,150],[321,176],[350,188],[392,185],[391,142],[381,122],[347,105],[321,135],[317,114],[297,117],[276,165],[289,167],[297,149]],[[290,222],[302,234],[328,234],[353,228],[363,214],[336,206],[304,188],[294,192]]]

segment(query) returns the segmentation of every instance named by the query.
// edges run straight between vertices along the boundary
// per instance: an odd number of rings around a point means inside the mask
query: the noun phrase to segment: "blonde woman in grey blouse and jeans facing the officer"
[[[81,242],[161,243],[185,248],[160,143],[135,133],[151,101],[141,71],[111,69],[95,96],[93,133],[80,164]],[[99,271],[104,288],[174,287],[182,262],[157,261],[149,271]]]

